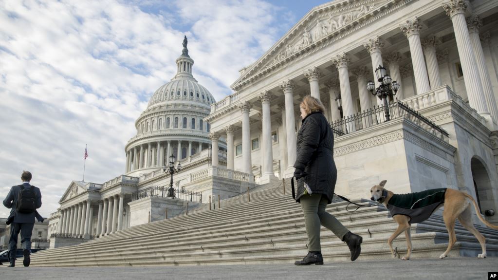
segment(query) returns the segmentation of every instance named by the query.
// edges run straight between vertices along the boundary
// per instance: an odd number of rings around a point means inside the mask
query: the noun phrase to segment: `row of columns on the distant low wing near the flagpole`
[[[97,231],[95,235],[108,235],[123,229],[124,193],[98,201]],[[57,233],[87,238],[93,235],[92,201],[87,200],[60,210]]]

